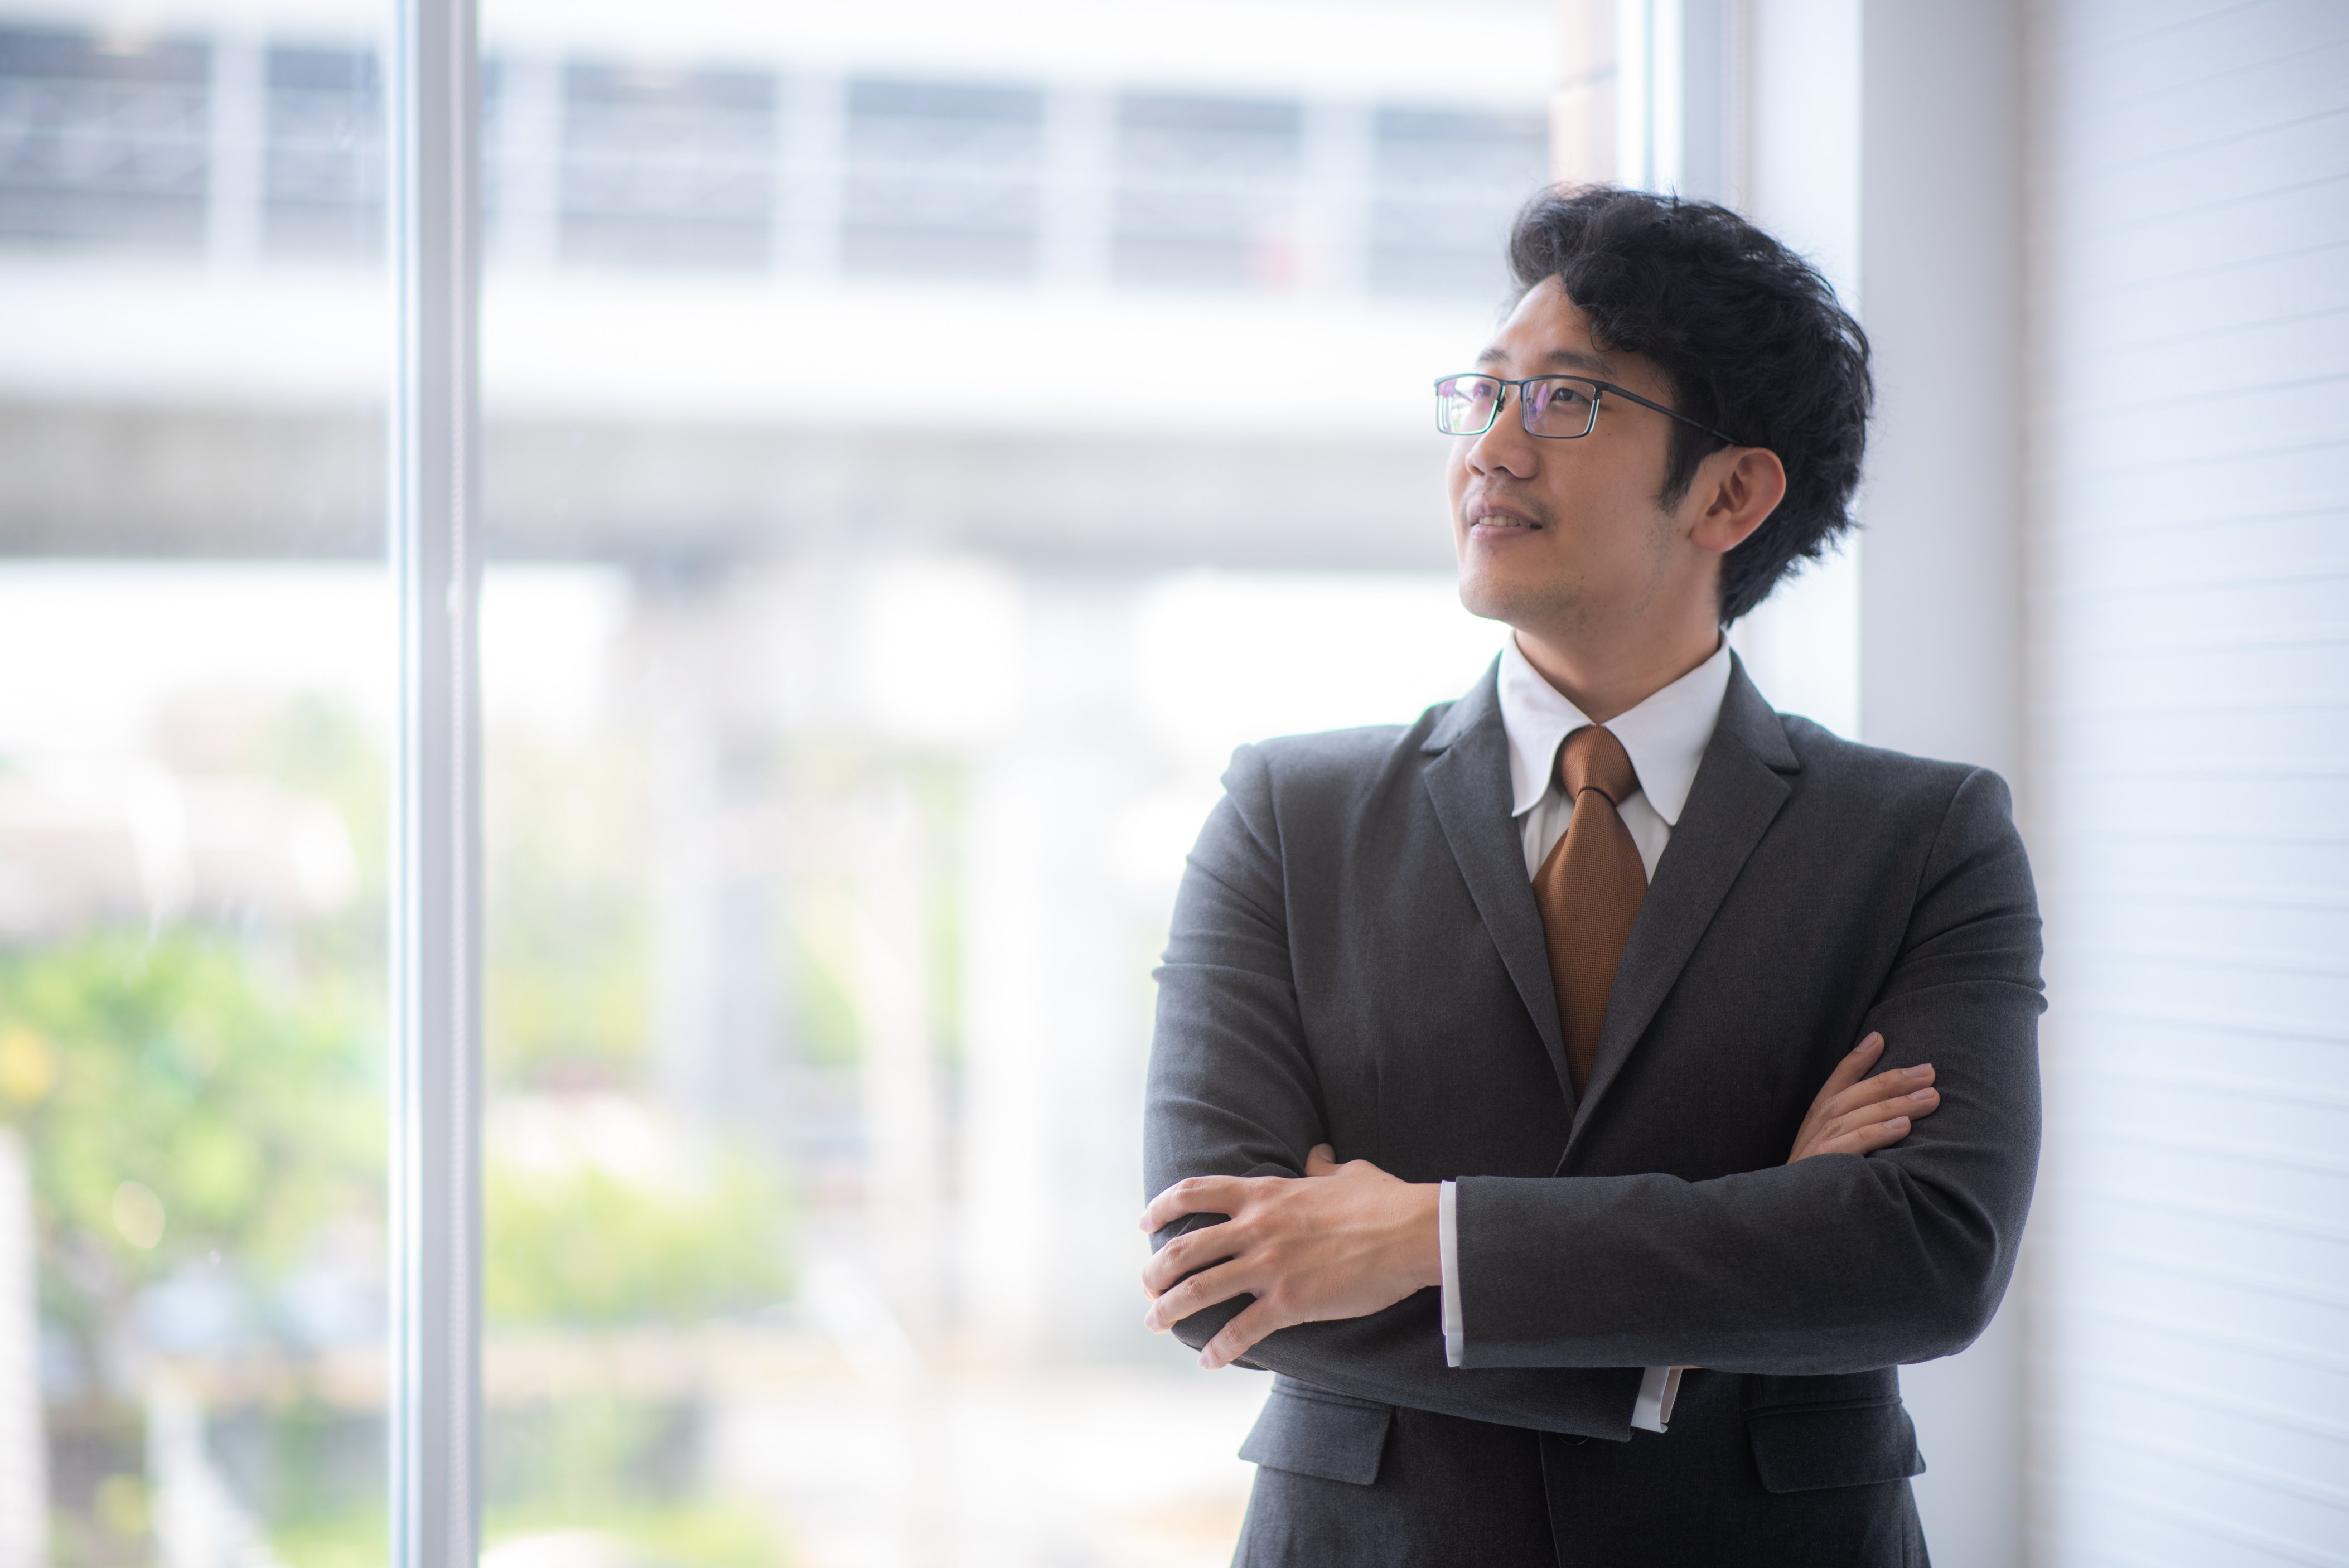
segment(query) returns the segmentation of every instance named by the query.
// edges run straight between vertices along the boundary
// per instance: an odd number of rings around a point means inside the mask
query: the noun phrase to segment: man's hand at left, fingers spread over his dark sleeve
[[[1198,1364],[1214,1368],[1238,1361],[1276,1329],[1391,1307],[1442,1284],[1435,1192],[1435,1183],[1388,1176],[1369,1160],[1337,1164],[1327,1143],[1306,1157],[1306,1181],[1177,1181],[1142,1211],[1144,1230],[1165,1230],[1186,1214],[1231,1218],[1174,1237],[1144,1265],[1151,1310],[1142,1324],[1165,1333],[1193,1312],[1252,1293],[1257,1300],[1198,1352]]]

